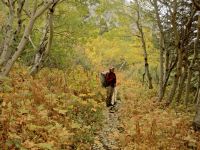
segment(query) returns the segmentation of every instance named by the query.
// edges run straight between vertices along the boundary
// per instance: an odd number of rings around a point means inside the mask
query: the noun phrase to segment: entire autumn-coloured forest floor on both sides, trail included
[[[3,150],[200,150],[194,108],[165,108],[156,88],[122,74],[114,113],[105,107],[96,74],[82,68],[67,75],[44,69],[35,78],[17,68],[0,84]]]

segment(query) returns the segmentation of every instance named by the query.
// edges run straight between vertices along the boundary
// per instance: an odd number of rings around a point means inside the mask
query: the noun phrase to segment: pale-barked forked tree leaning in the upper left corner
[[[24,51],[36,20],[42,14],[44,14],[44,12],[46,12],[46,10],[48,10],[50,7],[52,7],[52,5],[54,5],[55,3],[58,3],[59,0],[42,1],[40,4],[38,4],[38,0],[35,0],[31,13],[29,10],[25,10],[26,14],[29,15],[30,18],[29,18],[28,24],[25,26],[25,29],[23,31],[23,36],[20,38],[19,43],[17,43],[16,47],[12,45],[12,41],[14,40],[13,37],[15,37],[15,32],[13,32],[14,27],[12,26],[13,17],[14,17],[14,6],[15,6],[14,2],[15,1],[2,0],[2,2],[10,10],[9,19],[8,19],[9,20],[8,21],[9,32],[7,33],[8,37],[6,37],[4,40],[3,51],[2,51],[1,57],[0,57],[0,65],[1,65],[0,76],[6,76],[10,72],[15,61],[20,57],[21,53]],[[19,1],[19,3],[20,2],[23,2],[23,1]],[[22,5],[22,3],[21,3],[20,6],[21,6],[21,7],[19,7],[20,11],[18,11],[19,13],[17,15],[18,16],[18,24],[20,26],[18,26],[17,31],[21,30],[20,16],[21,16],[24,4]],[[16,32],[16,35],[18,35],[17,32]],[[12,49],[11,53],[9,52],[10,49]],[[7,56],[6,54],[10,54],[9,57],[6,57]]]

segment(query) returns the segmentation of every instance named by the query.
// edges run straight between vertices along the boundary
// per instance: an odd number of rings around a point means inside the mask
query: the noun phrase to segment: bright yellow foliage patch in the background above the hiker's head
[[[148,29],[144,29],[144,32],[149,63],[158,64],[159,56],[152,44],[152,34]],[[123,41],[116,37],[112,39],[107,39],[106,36],[98,37],[90,40],[85,49],[88,57],[96,66],[102,66],[109,60],[116,60],[120,63],[123,59],[129,64],[144,63],[142,43],[137,37],[131,38],[130,41]]]

